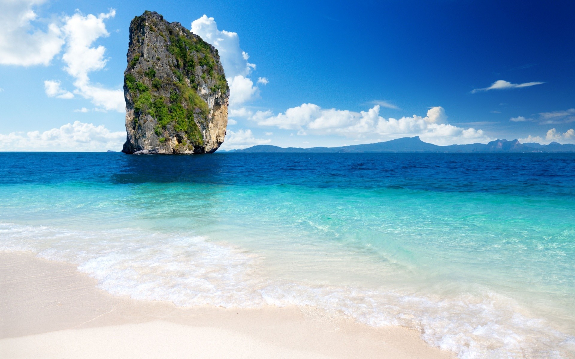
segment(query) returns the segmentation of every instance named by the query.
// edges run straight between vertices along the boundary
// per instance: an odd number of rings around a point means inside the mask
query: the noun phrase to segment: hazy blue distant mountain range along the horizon
[[[449,145],[438,146],[428,144],[416,137],[403,137],[397,140],[377,142],[375,144],[352,145],[341,147],[312,147],[299,148],[288,147],[282,148],[271,145],[257,145],[246,149],[232,149],[229,151],[218,150],[218,152],[233,153],[341,153],[341,152],[575,152],[575,145],[559,144],[551,142],[549,145],[541,145],[533,142],[522,144],[518,140],[495,140],[488,144],[469,144],[469,145]]]

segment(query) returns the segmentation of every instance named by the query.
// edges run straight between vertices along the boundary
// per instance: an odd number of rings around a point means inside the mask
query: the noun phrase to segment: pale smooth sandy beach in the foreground
[[[72,264],[0,252],[2,358],[454,358],[404,327],[315,308],[254,309],[112,296]]]

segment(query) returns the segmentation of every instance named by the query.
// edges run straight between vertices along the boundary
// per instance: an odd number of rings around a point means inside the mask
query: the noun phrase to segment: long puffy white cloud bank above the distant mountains
[[[322,109],[313,103],[287,109],[274,115],[271,111],[258,111],[250,117],[260,126],[298,130],[298,134],[337,134],[350,138],[385,138],[420,136],[421,140],[438,145],[488,142],[482,130],[461,128],[447,123],[443,107],[431,107],[425,117],[384,118],[379,105],[359,113],[349,110]]]

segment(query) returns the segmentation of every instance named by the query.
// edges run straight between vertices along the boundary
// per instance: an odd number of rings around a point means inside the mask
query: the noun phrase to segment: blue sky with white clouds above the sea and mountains
[[[228,54],[223,148],[575,142],[569,1],[0,0],[0,10],[1,150],[120,149],[128,26],[144,10],[198,21]]]

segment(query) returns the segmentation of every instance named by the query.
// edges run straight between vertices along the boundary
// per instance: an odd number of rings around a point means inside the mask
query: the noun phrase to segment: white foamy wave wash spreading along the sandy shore
[[[267,276],[261,257],[202,237],[0,223],[0,250],[74,263],[113,295],[179,306],[311,306],[371,326],[418,330],[424,341],[460,358],[575,357],[575,337],[496,293],[440,297],[294,283]]]

